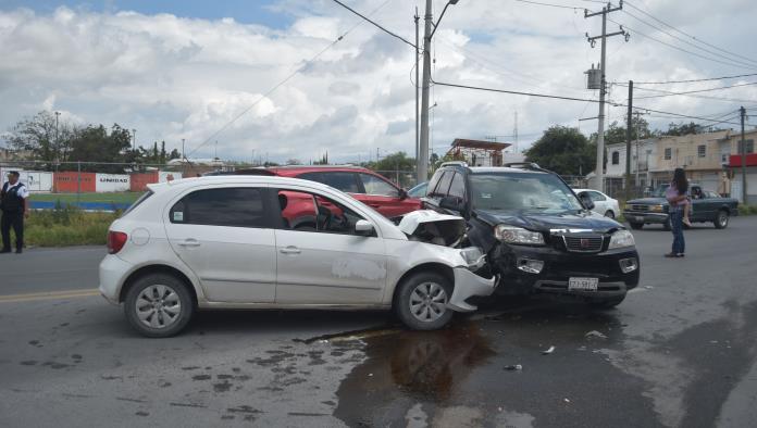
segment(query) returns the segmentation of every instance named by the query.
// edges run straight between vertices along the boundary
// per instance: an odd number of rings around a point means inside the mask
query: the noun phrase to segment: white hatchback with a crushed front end
[[[480,249],[419,240],[314,181],[216,176],[149,189],[111,225],[100,264],[102,295],[148,337],[177,333],[198,309],[394,309],[412,329],[436,329],[494,291],[474,273]]]

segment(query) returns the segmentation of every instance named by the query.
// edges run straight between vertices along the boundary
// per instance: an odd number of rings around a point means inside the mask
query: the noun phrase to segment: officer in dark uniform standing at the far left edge
[[[16,253],[21,254],[24,248],[24,217],[29,216],[27,209],[27,198],[29,191],[18,181],[18,172],[11,171],[8,174],[8,181],[2,185],[0,191],[0,210],[2,210],[2,221],[0,221],[0,231],[2,231],[2,251],[11,252],[11,227],[16,236]]]

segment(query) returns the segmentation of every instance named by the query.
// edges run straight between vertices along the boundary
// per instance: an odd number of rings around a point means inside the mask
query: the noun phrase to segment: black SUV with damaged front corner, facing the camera
[[[612,307],[638,284],[633,235],[536,164],[445,163],[423,205],[468,221],[468,243],[488,255],[498,293],[569,294]]]

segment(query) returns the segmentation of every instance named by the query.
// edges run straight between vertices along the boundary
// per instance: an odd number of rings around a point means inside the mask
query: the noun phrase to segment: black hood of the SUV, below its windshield
[[[591,229],[607,232],[623,228],[618,222],[594,212],[545,214],[531,211],[476,211],[479,218],[492,226],[507,224],[534,231],[554,229]]]

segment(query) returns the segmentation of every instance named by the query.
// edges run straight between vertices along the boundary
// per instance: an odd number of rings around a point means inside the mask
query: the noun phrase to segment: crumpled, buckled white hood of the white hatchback
[[[406,214],[398,227],[408,238],[455,247],[466,235],[467,223],[457,215],[420,210]]]

